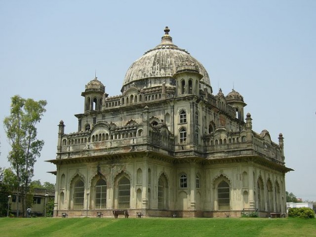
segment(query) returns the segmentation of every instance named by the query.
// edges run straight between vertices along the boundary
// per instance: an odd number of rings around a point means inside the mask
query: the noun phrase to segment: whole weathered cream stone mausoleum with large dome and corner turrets
[[[121,94],[97,78],[86,86],[78,131],[59,123],[55,216],[261,216],[285,213],[283,136],[252,130],[235,90],[213,95],[204,67],[172,42],[128,69]]]

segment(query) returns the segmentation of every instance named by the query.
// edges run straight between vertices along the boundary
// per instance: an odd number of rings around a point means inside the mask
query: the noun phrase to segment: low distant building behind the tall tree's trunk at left
[[[45,196],[46,195],[46,196]],[[45,204],[54,199],[55,191],[54,190],[45,190],[45,189],[34,189],[33,191],[33,202],[31,205],[32,215],[44,216],[44,207]],[[28,208],[28,206],[25,206]],[[16,195],[11,195],[10,199],[10,213],[16,215],[17,212],[17,197]],[[19,198],[19,213],[22,213],[22,200]]]

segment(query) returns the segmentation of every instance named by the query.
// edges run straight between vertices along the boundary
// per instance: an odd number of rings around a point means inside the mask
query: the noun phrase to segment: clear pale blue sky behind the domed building
[[[165,26],[197,58],[216,94],[235,86],[253,118],[285,142],[286,189],[316,200],[315,0],[0,0],[0,120],[10,97],[47,100],[45,141],[34,179],[55,183],[57,125],[77,131],[84,85],[94,78],[120,94],[129,66],[159,42]],[[0,166],[9,146],[0,126]]]

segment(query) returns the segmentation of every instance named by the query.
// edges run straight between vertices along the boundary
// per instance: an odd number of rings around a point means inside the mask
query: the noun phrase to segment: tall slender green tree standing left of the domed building
[[[15,95],[11,98],[10,116],[3,120],[4,130],[11,146],[8,161],[17,177],[17,193],[22,198],[23,215],[26,194],[29,192],[31,178],[34,176],[34,164],[36,158],[40,157],[44,145],[44,141],[37,139],[36,125],[46,111],[44,108],[46,104],[45,100],[34,101]],[[19,216],[18,210],[17,206],[17,216]]]

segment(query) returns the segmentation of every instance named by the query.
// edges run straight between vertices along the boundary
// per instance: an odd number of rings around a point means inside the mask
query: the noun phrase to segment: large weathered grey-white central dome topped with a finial
[[[177,72],[177,67],[181,62],[188,60],[197,65],[199,73],[203,76],[201,83],[210,87],[210,79],[203,65],[186,50],[173,44],[169,31],[166,27],[161,43],[148,50],[129,67],[123,81],[123,87],[140,79],[171,78]]]

